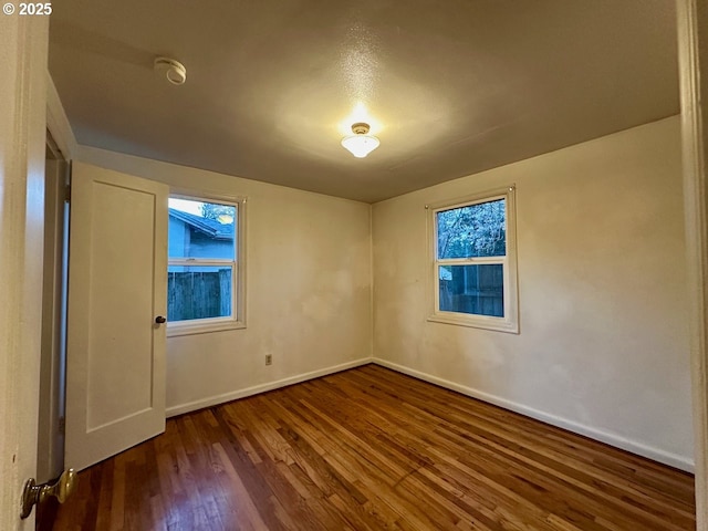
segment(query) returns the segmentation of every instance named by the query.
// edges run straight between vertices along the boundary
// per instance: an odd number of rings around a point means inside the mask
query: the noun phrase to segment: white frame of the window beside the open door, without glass
[[[189,189],[170,189],[170,199],[186,199],[199,202],[214,202],[236,207],[236,231],[233,236],[235,256],[229,259],[194,259],[194,258],[170,258],[167,253],[167,267],[170,266],[204,266],[219,267],[230,266],[231,270],[231,315],[228,317],[194,319],[188,321],[169,321],[167,315],[167,336],[180,336],[191,334],[204,334],[208,332],[220,332],[225,330],[237,330],[246,327],[246,205],[247,198],[242,196],[230,196],[226,194],[205,192]],[[167,236],[169,241],[169,233]],[[169,248],[169,246],[167,246]]]

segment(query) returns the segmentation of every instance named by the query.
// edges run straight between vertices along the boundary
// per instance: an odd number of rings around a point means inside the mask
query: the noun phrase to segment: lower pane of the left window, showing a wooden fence
[[[167,270],[167,319],[231,316],[230,267],[169,266]]]

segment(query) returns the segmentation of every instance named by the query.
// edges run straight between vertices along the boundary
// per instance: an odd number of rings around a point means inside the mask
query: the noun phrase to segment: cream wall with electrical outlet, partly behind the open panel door
[[[368,205],[85,146],[75,158],[248,197],[247,327],[167,340],[168,414],[369,361]]]

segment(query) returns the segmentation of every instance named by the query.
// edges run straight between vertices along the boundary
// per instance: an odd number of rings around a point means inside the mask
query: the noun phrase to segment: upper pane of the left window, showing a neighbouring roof
[[[235,259],[236,206],[169,199],[169,258]]]

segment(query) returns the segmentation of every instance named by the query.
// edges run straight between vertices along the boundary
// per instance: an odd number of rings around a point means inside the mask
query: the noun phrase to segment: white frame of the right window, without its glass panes
[[[506,201],[506,243],[504,257],[438,258],[437,214],[471,205],[504,199]],[[517,207],[516,185],[465,196],[461,198],[426,205],[428,229],[428,321],[471,326],[498,332],[519,333],[519,281],[517,272]],[[485,266],[501,264],[503,270],[504,316],[480,315],[440,310],[440,266]]]

